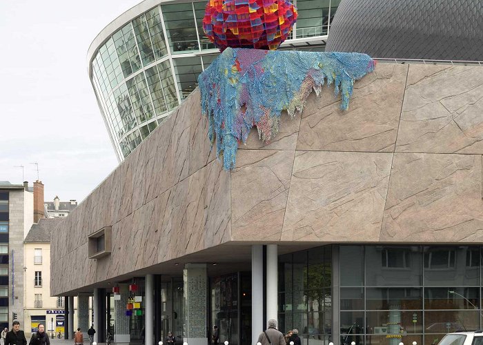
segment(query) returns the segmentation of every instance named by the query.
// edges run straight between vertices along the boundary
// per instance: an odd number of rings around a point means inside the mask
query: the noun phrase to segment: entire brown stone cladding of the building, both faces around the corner
[[[348,111],[324,88],[225,172],[196,90],[55,231],[51,292],[227,242],[483,243],[481,95],[481,66],[378,63]],[[103,226],[112,254],[88,260]]]

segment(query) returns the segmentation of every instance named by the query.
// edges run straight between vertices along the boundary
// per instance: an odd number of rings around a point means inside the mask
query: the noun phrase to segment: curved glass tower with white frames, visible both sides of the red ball
[[[299,15],[281,49],[323,50],[340,0],[294,0]],[[197,87],[219,55],[202,27],[206,1],[145,0],[104,28],[88,72],[119,161]]]

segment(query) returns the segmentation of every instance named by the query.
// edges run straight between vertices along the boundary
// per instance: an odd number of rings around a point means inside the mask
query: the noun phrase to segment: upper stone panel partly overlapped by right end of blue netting
[[[392,152],[408,66],[378,63],[355,81],[348,110],[340,110],[333,86],[309,97],[302,113],[297,150]]]

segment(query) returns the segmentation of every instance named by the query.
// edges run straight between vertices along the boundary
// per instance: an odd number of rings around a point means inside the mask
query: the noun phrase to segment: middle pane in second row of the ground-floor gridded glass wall
[[[366,288],[367,310],[422,309],[422,288]]]

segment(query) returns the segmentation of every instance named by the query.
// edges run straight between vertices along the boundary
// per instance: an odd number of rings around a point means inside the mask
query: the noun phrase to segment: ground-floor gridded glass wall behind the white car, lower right
[[[340,246],[341,344],[437,344],[481,326],[475,246]]]

